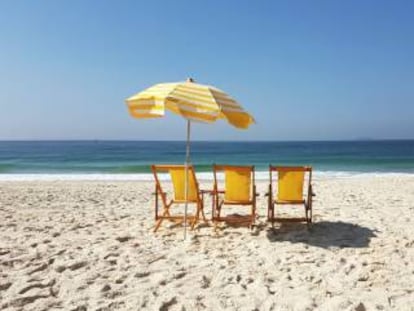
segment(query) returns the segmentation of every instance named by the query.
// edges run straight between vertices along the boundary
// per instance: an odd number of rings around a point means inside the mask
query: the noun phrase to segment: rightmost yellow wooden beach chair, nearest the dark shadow
[[[273,173],[277,175],[277,191],[273,189]],[[307,191],[304,193],[305,175]],[[312,223],[312,167],[309,166],[269,166],[269,192],[267,218],[272,222]],[[305,217],[282,218],[275,215],[275,205],[303,205]]]

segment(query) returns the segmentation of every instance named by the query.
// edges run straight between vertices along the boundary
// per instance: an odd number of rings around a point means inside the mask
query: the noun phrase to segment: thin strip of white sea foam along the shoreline
[[[315,179],[324,178],[360,178],[360,177],[404,177],[414,173],[396,172],[349,172],[349,171],[314,171]],[[161,180],[168,180],[168,174],[160,174]],[[199,180],[213,180],[211,172],[197,173]],[[256,180],[269,179],[269,172],[256,171]],[[223,174],[218,175],[223,179]],[[153,181],[152,174],[0,174],[0,181]]]

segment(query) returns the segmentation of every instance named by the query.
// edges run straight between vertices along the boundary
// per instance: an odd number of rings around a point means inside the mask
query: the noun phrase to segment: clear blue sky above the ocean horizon
[[[152,84],[213,84],[257,124],[195,140],[414,138],[414,1],[0,0],[0,139],[176,139]]]

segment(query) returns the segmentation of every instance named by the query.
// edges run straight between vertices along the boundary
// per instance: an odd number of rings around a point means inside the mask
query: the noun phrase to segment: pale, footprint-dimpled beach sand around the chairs
[[[253,231],[184,242],[152,233],[149,182],[1,182],[0,309],[414,310],[414,176],[314,186],[310,231],[272,229],[261,195]]]

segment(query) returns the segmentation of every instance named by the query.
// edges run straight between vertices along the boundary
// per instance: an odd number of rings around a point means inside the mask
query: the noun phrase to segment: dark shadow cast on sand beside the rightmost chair
[[[267,238],[270,242],[288,241],[322,248],[363,248],[376,237],[374,232],[370,228],[341,221],[316,222],[309,229],[304,223],[282,223],[268,229]]]

